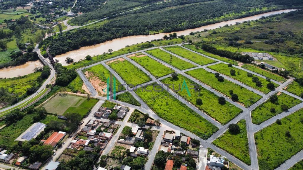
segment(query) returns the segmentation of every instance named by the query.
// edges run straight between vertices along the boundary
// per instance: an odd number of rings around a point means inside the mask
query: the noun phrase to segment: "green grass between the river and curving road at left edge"
[[[21,77],[0,79],[0,87],[20,97],[26,94],[27,89],[32,87],[32,83],[35,83],[40,74],[41,72],[35,72]]]

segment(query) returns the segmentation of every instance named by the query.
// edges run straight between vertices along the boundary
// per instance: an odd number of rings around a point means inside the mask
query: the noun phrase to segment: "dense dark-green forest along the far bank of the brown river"
[[[213,24],[222,20],[258,14],[261,13],[261,11],[251,11],[241,16],[228,15],[229,17],[216,19],[220,16],[224,16],[227,12],[233,11],[239,13],[248,11],[251,7],[260,4],[265,5],[265,1],[235,0],[230,2],[228,0],[219,0],[185,6],[180,5],[175,8],[167,8],[160,11],[121,16],[93,29],[83,28],[67,31],[64,34],[59,34],[57,38],[47,38],[43,44],[48,44],[50,52],[55,56],[78,49],[79,47],[98,44],[124,36],[148,35],[151,31],[181,31]],[[222,6],[225,8],[222,8]]]

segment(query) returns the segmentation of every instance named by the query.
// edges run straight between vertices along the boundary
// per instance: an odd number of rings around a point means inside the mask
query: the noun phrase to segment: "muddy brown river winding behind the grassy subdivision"
[[[188,35],[190,32],[203,31],[204,29],[211,30],[211,29],[223,27],[224,25],[234,25],[237,22],[256,20],[256,19],[260,19],[261,17],[267,17],[267,16],[274,15],[274,14],[281,14],[283,12],[287,13],[287,12],[295,11],[295,10],[297,10],[297,9],[285,9],[285,10],[266,12],[263,14],[254,15],[254,16],[250,16],[250,17],[223,21],[223,22],[219,22],[216,24],[202,26],[199,28],[188,29],[188,30],[184,30],[184,31],[175,31],[175,32],[177,33],[177,35],[182,35],[182,34]],[[68,65],[65,62],[66,57],[71,57],[74,59],[74,61],[80,61],[80,60],[84,60],[85,56],[87,56],[87,55],[95,56],[95,55],[103,54],[104,52],[108,52],[108,49],[117,51],[121,48],[124,48],[126,45],[132,45],[132,44],[137,44],[137,43],[141,43],[141,42],[145,42],[145,41],[151,41],[154,39],[160,39],[164,35],[168,35],[168,34],[169,33],[160,33],[160,34],[154,34],[154,35],[135,35],[135,36],[117,38],[112,41],[106,41],[104,43],[100,43],[100,44],[96,44],[96,45],[92,45],[92,46],[81,47],[78,50],[74,50],[74,51],[67,52],[65,54],[58,55],[58,56],[54,57],[54,59],[58,60],[59,63],[61,63],[62,65]],[[26,64],[23,64],[23,65],[17,66],[17,67],[0,69],[0,77],[9,78],[9,77],[17,77],[18,75],[22,76],[22,75],[32,73],[33,69],[35,67],[42,66],[41,63],[40,64],[38,64],[38,63],[40,63],[40,62],[32,61],[32,62],[27,62]]]

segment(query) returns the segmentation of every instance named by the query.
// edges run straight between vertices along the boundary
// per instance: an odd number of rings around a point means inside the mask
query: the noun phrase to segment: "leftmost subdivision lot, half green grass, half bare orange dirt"
[[[110,72],[102,65],[90,67],[82,70],[86,78],[92,83],[93,87],[101,96],[106,96],[107,79],[110,77]],[[104,91],[103,91],[104,90]],[[116,92],[125,90],[121,83],[116,79]]]

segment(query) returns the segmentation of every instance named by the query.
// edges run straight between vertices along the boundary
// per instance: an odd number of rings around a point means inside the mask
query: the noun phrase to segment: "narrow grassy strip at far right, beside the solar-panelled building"
[[[279,76],[278,74],[271,73],[268,70],[261,69],[260,67],[252,65],[252,64],[244,64],[241,67],[245,68],[247,70],[251,70],[251,71],[253,71],[255,73],[261,74],[262,76],[268,77],[268,78],[270,78],[272,80],[279,81],[281,83],[286,81],[286,79],[284,77]]]

